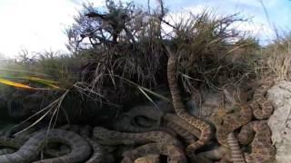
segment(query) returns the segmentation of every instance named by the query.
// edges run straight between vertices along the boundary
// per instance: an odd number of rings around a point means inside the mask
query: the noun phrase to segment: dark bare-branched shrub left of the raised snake
[[[131,3],[106,2],[105,12],[85,5],[67,31],[68,46],[86,59],[82,82],[123,101],[132,93],[126,80],[153,88],[166,70],[161,20]]]

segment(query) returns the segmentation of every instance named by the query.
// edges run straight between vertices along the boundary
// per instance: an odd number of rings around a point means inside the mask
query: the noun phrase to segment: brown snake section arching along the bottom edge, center
[[[165,143],[150,143],[125,152],[125,157],[121,163],[134,163],[136,158],[140,158],[149,154],[166,155],[168,163],[187,162],[183,150],[177,146]]]

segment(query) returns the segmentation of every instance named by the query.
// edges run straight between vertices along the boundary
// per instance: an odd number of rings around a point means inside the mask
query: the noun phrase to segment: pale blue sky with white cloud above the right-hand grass
[[[144,5],[147,2],[134,1],[139,4],[143,2]],[[155,2],[155,0],[151,1]],[[216,14],[222,15],[238,13],[250,20],[248,23],[239,26],[239,28],[251,31],[264,43],[274,39],[275,27],[279,31],[291,30],[290,0],[165,0],[165,2],[166,7],[173,13],[179,13],[185,9],[199,13],[205,8],[210,8]],[[266,11],[262,4],[265,5]]]

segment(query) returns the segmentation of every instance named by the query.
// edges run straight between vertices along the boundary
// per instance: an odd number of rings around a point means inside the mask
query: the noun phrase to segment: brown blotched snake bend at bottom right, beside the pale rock
[[[266,120],[247,123],[237,135],[242,144],[251,142],[252,152],[246,154],[246,162],[266,162],[275,158],[276,150],[272,145],[271,130]]]

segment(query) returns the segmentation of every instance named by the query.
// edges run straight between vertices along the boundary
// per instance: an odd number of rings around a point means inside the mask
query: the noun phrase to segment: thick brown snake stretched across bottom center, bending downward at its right
[[[164,131],[148,131],[143,133],[125,133],[95,127],[93,135],[98,142],[109,144],[146,144],[136,149],[125,152],[122,163],[133,163],[136,158],[149,154],[162,154],[168,157],[169,163],[185,162],[186,157],[181,148],[181,143]],[[103,140],[103,141],[102,141]]]

